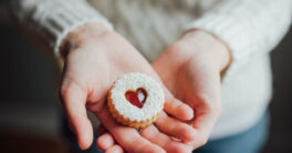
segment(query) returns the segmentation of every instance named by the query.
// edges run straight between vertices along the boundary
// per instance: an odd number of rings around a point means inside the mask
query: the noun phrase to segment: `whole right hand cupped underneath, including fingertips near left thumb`
[[[196,119],[185,121],[188,125],[178,121],[175,124],[163,119],[166,116],[163,113],[155,123],[165,121],[170,123],[167,126],[182,125],[185,132],[178,131],[175,136],[189,136],[187,140],[180,139],[181,142],[175,141],[171,134],[159,133],[154,125],[140,134],[167,152],[187,153],[204,145],[221,112],[220,72],[228,67],[229,57],[227,48],[219,40],[202,31],[188,32],[167,48],[153,67],[174,95],[192,106]],[[98,137],[97,145],[108,152],[116,149],[108,133]]]

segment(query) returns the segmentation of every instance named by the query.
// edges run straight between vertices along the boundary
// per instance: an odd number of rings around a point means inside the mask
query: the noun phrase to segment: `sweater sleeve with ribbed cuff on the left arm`
[[[112,24],[85,0],[13,0],[12,9],[28,34],[41,38],[55,57],[60,55],[63,38],[86,22],[100,22],[113,30]]]

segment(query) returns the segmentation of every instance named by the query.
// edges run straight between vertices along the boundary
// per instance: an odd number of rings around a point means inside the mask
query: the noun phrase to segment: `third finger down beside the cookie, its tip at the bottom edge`
[[[191,147],[181,143],[174,141],[168,135],[159,132],[154,125],[150,125],[144,129],[140,132],[140,135],[147,139],[148,141],[161,146],[166,152],[175,153],[188,153],[191,152]]]

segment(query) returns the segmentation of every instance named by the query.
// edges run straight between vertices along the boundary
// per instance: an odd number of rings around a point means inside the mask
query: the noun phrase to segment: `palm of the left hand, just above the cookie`
[[[115,45],[107,45],[107,55],[97,44],[80,48],[67,57],[63,86],[75,83],[87,94],[87,109],[97,113],[105,105],[107,92],[113,82],[127,72],[142,72],[157,79],[149,63],[123,39]],[[118,49],[123,45],[123,50]],[[136,64],[139,63],[139,64]]]

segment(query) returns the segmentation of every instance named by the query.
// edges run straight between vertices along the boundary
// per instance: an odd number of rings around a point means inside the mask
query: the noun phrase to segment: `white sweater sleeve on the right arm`
[[[232,63],[227,81],[249,57],[271,51],[289,30],[291,18],[291,0],[225,0],[186,29],[206,30],[229,47]]]

